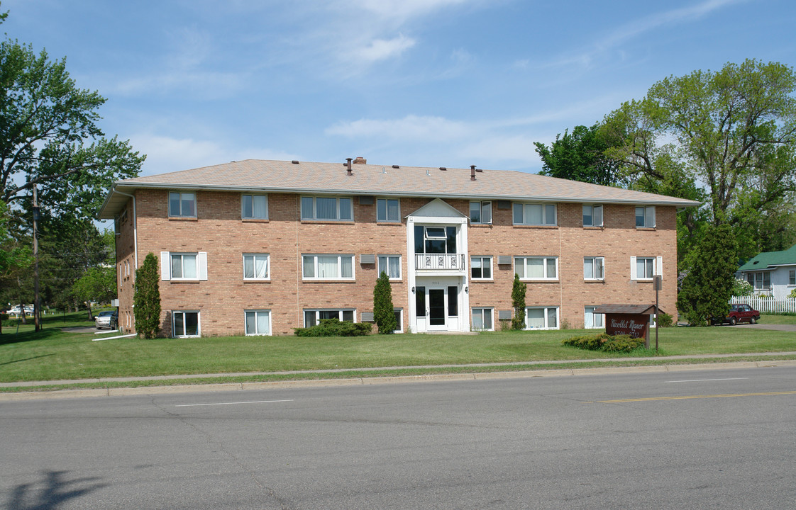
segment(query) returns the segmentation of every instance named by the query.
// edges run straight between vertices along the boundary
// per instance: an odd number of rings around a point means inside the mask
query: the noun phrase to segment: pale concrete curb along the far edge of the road
[[[0,393],[0,402],[21,400],[46,400],[68,398],[96,398],[107,396],[176,395],[198,392],[236,392],[283,388],[326,388],[335,386],[362,386],[377,384],[410,384],[451,381],[488,381],[494,379],[525,379],[532,377],[583,377],[626,373],[665,373],[694,370],[765,369],[796,366],[796,360],[728,361],[726,363],[700,363],[695,365],[654,365],[627,367],[594,367],[584,369],[544,369],[509,372],[443,373],[416,376],[350,377],[346,379],[314,379],[310,381],[263,381],[215,384],[175,384],[169,386],[142,386],[139,388],[88,388],[60,389],[42,392]]]

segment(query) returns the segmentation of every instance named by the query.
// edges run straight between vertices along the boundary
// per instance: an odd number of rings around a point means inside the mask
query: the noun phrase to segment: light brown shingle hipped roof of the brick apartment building
[[[343,163],[243,160],[157,176],[117,181],[115,189],[138,187],[172,189],[224,189],[240,191],[293,191],[347,195],[428,196],[541,200],[552,202],[639,203],[689,207],[692,200],[556,179],[533,173],[483,170],[470,180],[470,168],[400,167],[353,164],[348,176]],[[122,196],[111,191],[100,218],[113,218],[123,207]]]

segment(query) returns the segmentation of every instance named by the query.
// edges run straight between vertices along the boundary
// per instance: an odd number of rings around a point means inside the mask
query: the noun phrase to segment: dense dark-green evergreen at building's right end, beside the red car
[[[677,308],[693,326],[705,326],[711,319],[727,316],[738,269],[736,253],[736,240],[726,223],[705,230],[696,249],[689,253]]]

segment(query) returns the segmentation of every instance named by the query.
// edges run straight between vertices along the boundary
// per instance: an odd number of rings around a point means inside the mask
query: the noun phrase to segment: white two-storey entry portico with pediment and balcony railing
[[[407,253],[412,330],[469,331],[466,215],[442,199],[409,214]]]

